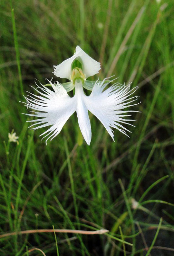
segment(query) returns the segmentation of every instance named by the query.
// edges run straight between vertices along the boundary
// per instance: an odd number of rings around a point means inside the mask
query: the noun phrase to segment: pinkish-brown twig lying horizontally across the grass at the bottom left
[[[19,232],[11,232],[0,235],[0,238],[22,235],[22,234],[34,234],[34,233],[73,233],[73,234],[83,234],[83,235],[101,235],[106,232],[109,232],[107,229],[99,229],[95,231],[86,231],[86,230],[77,230],[77,229],[31,229],[31,230],[23,230]]]

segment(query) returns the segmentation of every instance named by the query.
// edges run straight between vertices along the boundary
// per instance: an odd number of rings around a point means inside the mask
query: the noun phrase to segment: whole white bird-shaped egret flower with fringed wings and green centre
[[[36,84],[37,88],[33,88],[39,95],[28,92],[28,97],[24,97],[26,107],[34,110],[34,113],[26,115],[37,118],[27,121],[34,122],[29,128],[32,127],[31,129],[36,130],[50,126],[40,135],[44,135],[43,138],[47,137],[46,144],[48,139],[52,140],[61,132],[64,124],[75,111],[83,138],[88,145],[91,142],[91,123],[88,111],[100,120],[113,141],[112,128],[116,128],[125,135],[127,135],[126,132],[130,132],[123,124],[134,126],[130,124],[130,121],[135,120],[124,118],[131,117],[130,112],[138,111],[125,109],[139,104],[134,103],[138,96],[132,97],[138,87],[130,89],[130,84],[125,86],[114,83],[111,87],[105,89],[115,79],[111,81],[108,81],[108,78],[103,81],[98,79],[96,82],[86,80],[88,77],[97,74],[100,69],[100,63],[93,60],[77,46],[71,58],[54,66],[54,75],[69,79],[68,83],[60,84],[51,80],[49,85],[52,89],[41,83]],[[92,91],[89,96],[85,95],[83,87]],[[75,94],[70,97],[67,92],[73,90],[73,88],[75,88]]]

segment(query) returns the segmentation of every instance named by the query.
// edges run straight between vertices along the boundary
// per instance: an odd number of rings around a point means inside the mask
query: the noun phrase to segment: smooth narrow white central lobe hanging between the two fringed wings
[[[90,145],[91,142],[91,123],[88,115],[88,109],[84,103],[84,99],[87,97],[83,92],[82,83],[77,85],[75,82],[75,99],[77,101],[77,117],[79,122],[79,127],[82,132],[83,138],[86,143]]]

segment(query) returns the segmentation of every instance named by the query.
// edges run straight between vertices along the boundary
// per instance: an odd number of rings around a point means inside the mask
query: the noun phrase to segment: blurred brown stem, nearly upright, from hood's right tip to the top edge
[[[99,59],[99,62],[101,63],[101,67],[103,64],[104,52],[106,49],[108,29],[109,29],[109,23],[110,23],[110,18],[111,18],[111,8],[112,8],[112,0],[109,0],[108,10],[107,10],[107,15],[106,15],[106,22],[105,22],[104,33],[103,33],[103,39],[102,39],[102,43],[101,43],[100,59]]]

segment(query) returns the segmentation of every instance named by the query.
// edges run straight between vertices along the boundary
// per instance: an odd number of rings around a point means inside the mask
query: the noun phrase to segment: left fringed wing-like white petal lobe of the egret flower
[[[36,110],[32,111],[34,114],[25,115],[38,118],[37,120],[28,121],[34,122],[34,124],[30,126],[33,127],[31,129],[36,130],[42,127],[51,126],[47,131],[41,134],[45,134],[44,137],[49,135],[47,140],[52,140],[60,133],[65,122],[76,110],[75,98],[70,98],[61,84],[53,84],[52,82],[50,82],[50,84],[53,87],[53,91],[48,87],[41,85],[35,90],[42,96],[30,93],[30,95],[25,98],[27,102],[26,107]]]

